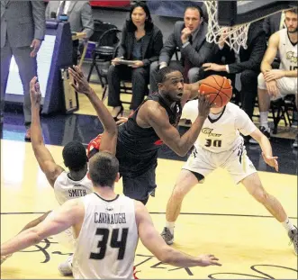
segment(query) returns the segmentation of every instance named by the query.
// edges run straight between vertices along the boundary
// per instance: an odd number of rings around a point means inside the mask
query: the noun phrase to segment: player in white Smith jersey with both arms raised
[[[69,68],[69,74],[72,77],[76,76],[77,79],[84,77],[82,71],[78,67],[74,67],[74,69]],[[77,86],[73,86],[77,91],[83,91],[83,86],[88,86],[88,84],[79,83]],[[42,172],[46,175],[48,182],[54,189],[58,203],[61,205],[70,199],[93,193],[92,182],[87,176],[88,158],[86,157],[86,149],[82,143],[71,141],[62,150],[64,164],[68,167],[69,172],[56,164],[49,149],[44,145],[40,120],[41,92],[36,77],[33,77],[30,83],[30,94],[32,100],[32,149]],[[113,121],[113,117],[92,88],[90,88],[86,96],[91,104],[93,104],[98,118],[104,126],[101,149],[107,150],[114,155],[117,140],[117,127]],[[23,230],[39,224],[46,219],[49,213],[50,212],[46,212],[41,217],[31,221],[23,228]],[[59,240],[68,247],[73,247],[73,244],[71,244],[73,243],[71,231],[67,230],[64,234],[59,235]],[[7,257],[10,256],[6,256],[6,258]],[[5,258],[3,258],[3,260],[5,260]],[[61,274],[70,275],[72,273],[71,266],[68,266],[70,261],[71,257],[69,257],[66,263],[59,265]]]

